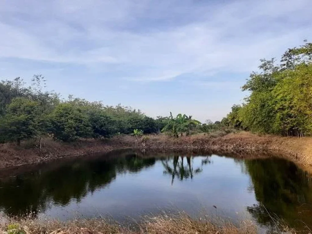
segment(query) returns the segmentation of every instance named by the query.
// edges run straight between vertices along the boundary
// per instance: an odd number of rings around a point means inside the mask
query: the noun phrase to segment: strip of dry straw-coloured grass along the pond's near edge
[[[32,219],[7,220],[0,224],[0,232],[8,234],[256,234],[258,228],[251,221],[233,225],[228,222],[197,221],[185,214],[145,217],[142,223],[127,227],[105,219],[79,219],[70,222],[38,221]]]

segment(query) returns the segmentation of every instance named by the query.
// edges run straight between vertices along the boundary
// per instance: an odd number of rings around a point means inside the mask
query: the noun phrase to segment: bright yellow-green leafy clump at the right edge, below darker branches
[[[312,64],[283,71],[273,90],[274,129],[283,135],[312,133]]]

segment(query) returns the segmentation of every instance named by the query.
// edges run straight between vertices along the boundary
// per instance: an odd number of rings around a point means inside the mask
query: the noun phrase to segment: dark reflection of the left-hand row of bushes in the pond
[[[155,164],[133,152],[115,152],[92,160],[76,159],[0,180],[0,207],[7,215],[44,212],[49,204],[66,206],[104,188],[117,173],[138,173]],[[47,167],[47,168],[46,168]]]

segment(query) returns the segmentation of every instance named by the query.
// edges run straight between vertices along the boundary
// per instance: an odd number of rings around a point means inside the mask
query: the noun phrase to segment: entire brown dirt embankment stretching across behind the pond
[[[305,166],[312,166],[312,138],[279,136],[258,136],[248,132],[227,134],[225,136],[192,135],[174,139],[165,135],[149,135],[136,139],[123,136],[109,140],[80,140],[75,143],[60,143],[46,139],[39,153],[38,146],[24,142],[0,145],[0,167],[17,166],[77,156],[96,152],[108,152],[114,149],[136,148],[166,151],[207,151],[212,153],[231,153],[239,157],[257,155],[279,155]]]

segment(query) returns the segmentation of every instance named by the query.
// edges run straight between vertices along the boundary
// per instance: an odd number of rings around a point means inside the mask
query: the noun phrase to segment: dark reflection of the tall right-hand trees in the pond
[[[275,227],[283,220],[292,227],[312,224],[312,181],[307,172],[283,159],[245,161],[258,204],[247,207],[257,222]]]

